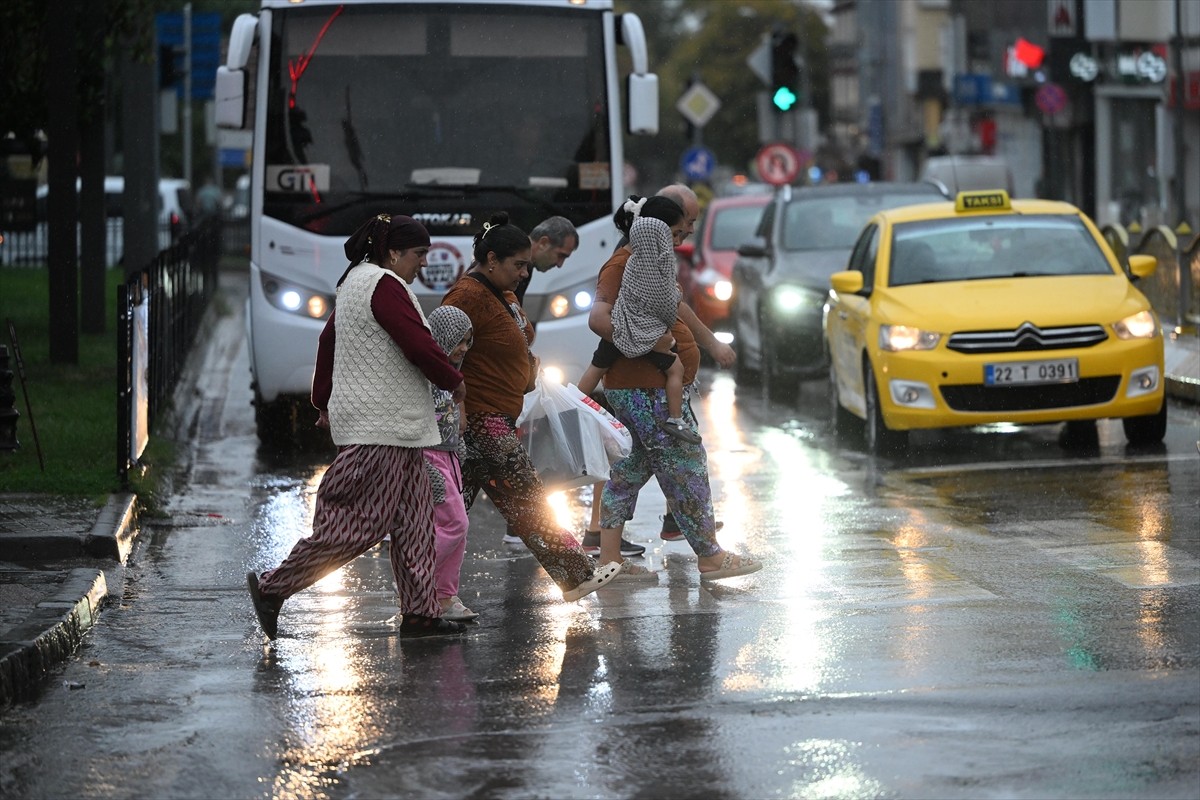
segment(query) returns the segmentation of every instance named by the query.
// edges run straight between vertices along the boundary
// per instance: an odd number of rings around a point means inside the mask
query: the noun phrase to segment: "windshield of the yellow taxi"
[[[1111,273],[1076,216],[972,215],[898,224],[888,285]]]

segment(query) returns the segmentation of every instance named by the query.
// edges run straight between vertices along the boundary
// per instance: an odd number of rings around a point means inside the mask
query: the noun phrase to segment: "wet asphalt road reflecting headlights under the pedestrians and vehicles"
[[[658,582],[565,604],[481,501],[468,636],[398,639],[377,549],[264,645],[244,572],[307,533],[328,459],[257,452],[240,326],[120,604],[0,717],[0,795],[1200,795],[1194,407],[1153,452],[1104,423],[1084,452],[960,432],[894,463],[832,441],[818,387],[770,404],[706,375],[720,539],[762,572],[700,585],[652,483],[629,535]],[[564,522],[588,500],[558,497]]]

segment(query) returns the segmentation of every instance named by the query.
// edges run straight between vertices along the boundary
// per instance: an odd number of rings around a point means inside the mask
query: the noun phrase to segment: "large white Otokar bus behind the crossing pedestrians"
[[[624,88],[618,47],[630,56]],[[580,248],[534,275],[526,309],[542,366],[582,373],[595,276],[625,197],[622,139],[658,132],[636,16],[613,13],[612,0],[263,0],[234,23],[216,115],[253,131],[247,333],[260,439],[311,425],[342,243],[380,212],[430,230],[413,283],[426,312],[469,266],[493,211],[526,230],[554,215],[574,222]]]

